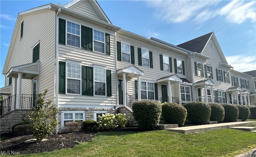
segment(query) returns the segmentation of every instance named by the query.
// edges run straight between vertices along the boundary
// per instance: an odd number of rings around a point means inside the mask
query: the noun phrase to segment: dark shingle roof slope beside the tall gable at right
[[[187,49],[192,52],[201,53],[204,49],[204,46],[206,45],[208,39],[212,35],[213,32],[202,35],[200,37],[197,37],[195,39],[192,39],[190,41],[187,41],[185,43],[182,43],[180,45],[177,45],[178,47],[182,47],[184,49]]]

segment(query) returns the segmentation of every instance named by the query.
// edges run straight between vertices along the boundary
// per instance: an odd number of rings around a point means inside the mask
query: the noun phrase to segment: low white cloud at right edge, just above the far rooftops
[[[245,72],[256,70],[256,55],[255,56],[243,56],[234,55],[226,57],[228,64],[234,67],[234,70]]]

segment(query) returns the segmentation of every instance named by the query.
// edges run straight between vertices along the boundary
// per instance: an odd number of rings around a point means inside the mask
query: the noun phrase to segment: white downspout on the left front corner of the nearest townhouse
[[[58,39],[59,39],[59,14],[60,14],[60,8],[58,8],[58,12],[56,14],[56,29],[55,29],[55,39],[56,39],[56,43],[55,43],[55,95],[56,95],[56,108],[58,109],[58,94],[59,94],[59,63],[58,63],[58,60],[59,60],[59,55],[58,55],[58,51],[59,51],[59,42],[58,42]],[[59,114],[57,113],[56,114],[56,119],[57,121],[59,120]],[[59,132],[59,125],[56,125],[56,134],[58,134]]]

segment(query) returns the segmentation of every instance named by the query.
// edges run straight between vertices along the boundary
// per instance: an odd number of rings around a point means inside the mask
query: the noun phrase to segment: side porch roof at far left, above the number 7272
[[[22,73],[22,78],[33,79],[40,74],[40,62],[29,63],[25,65],[19,65],[17,67],[11,67],[6,74],[6,77],[18,78],[18,73]]]

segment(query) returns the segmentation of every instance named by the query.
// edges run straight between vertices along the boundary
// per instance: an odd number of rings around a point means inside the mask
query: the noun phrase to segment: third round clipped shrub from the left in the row
[[[206,124],[210,120],[211,107],[204,102],[188,102],[184,104],[188,112],[188,120],[192,123]]]

